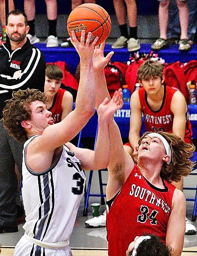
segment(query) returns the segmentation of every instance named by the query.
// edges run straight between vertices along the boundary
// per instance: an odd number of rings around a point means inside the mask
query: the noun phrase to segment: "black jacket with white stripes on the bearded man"
[[[12,98],[12,93],[19,89],[39,89],[44,91],[45,58],[38,48],[31,45],[29,39],[14,51],[10,41],[0,46],[0,119],[6,105],[5,100]],[[20,77],[13,75],[21,70]]]

